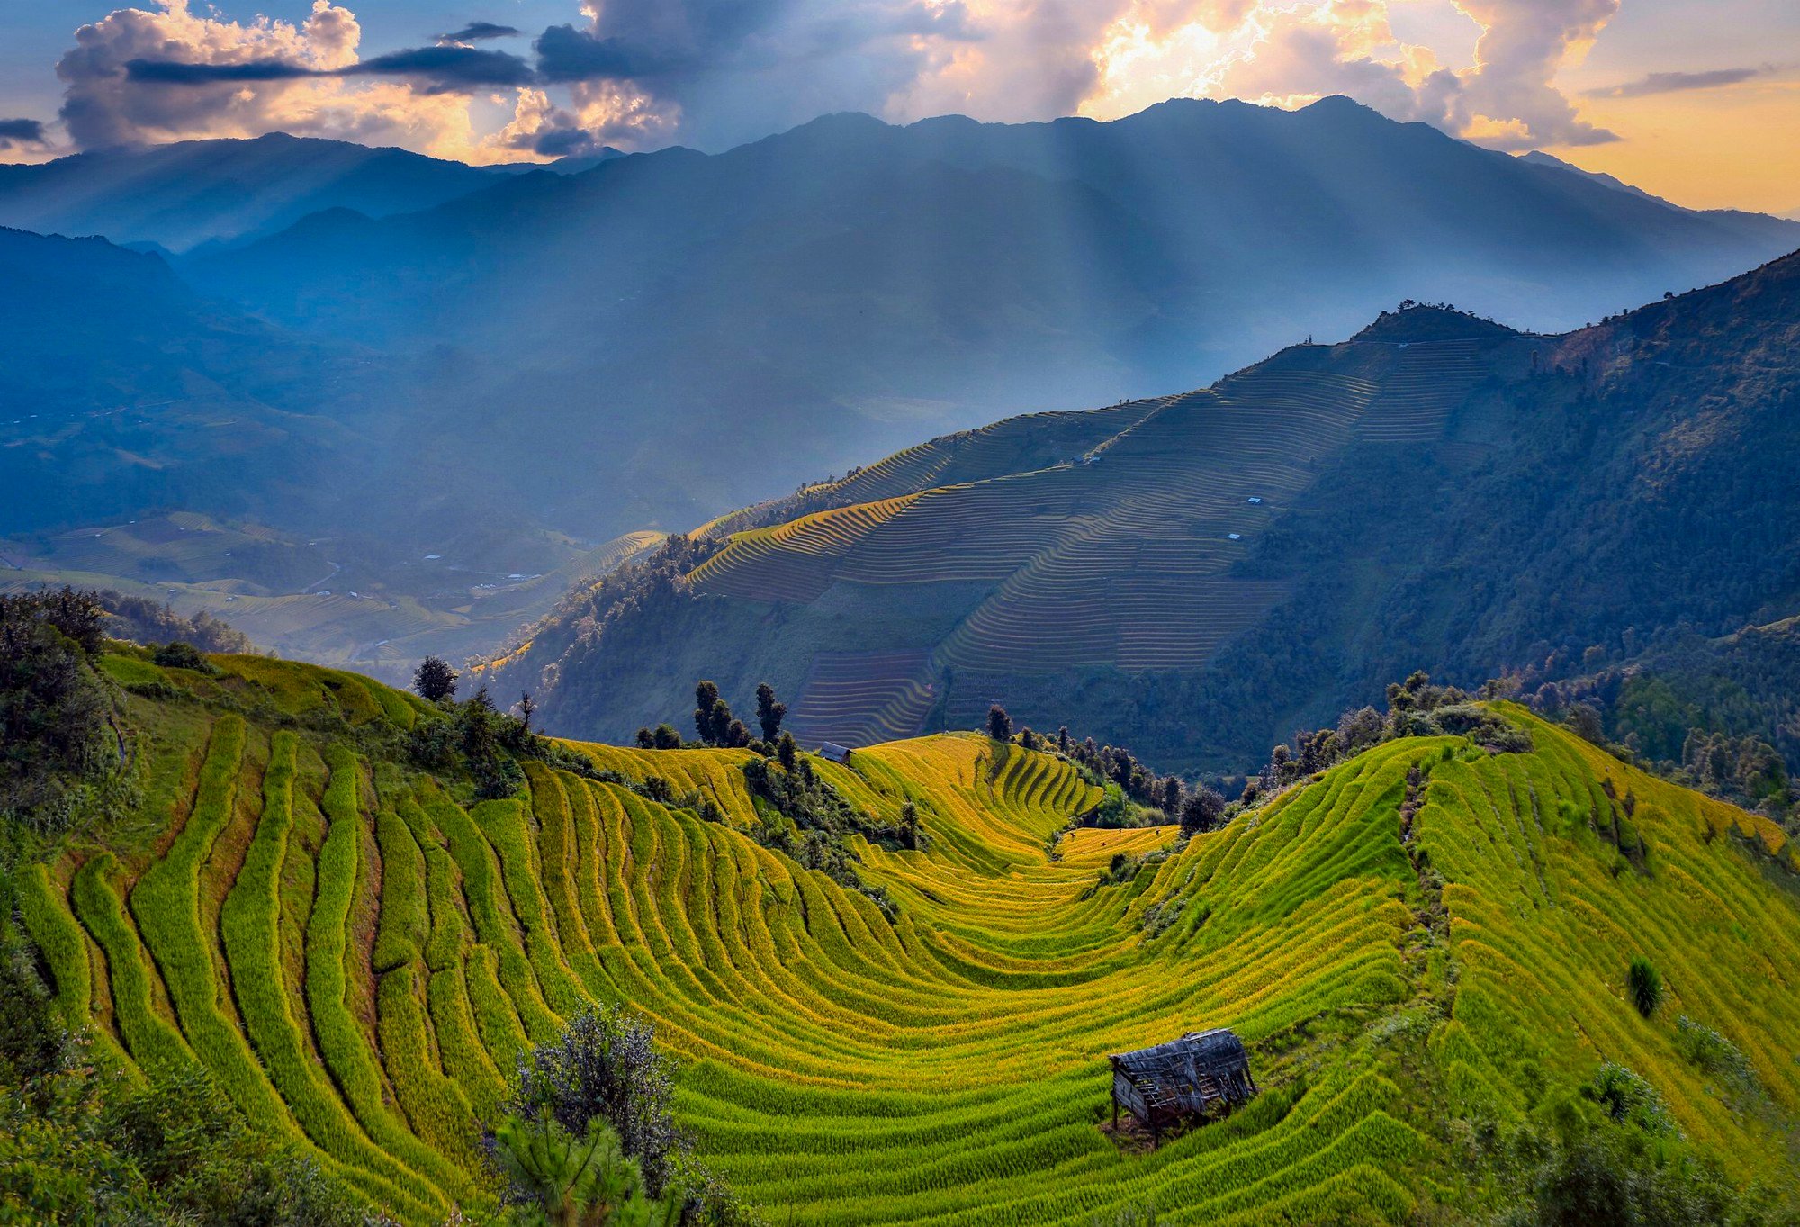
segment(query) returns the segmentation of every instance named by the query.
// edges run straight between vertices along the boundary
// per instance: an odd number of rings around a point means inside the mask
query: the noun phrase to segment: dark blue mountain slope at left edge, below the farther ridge
[[[7,533],[171,504],[292,511],[355,437],[333,385],[349,358],[365,378],[365,354],[207,302],[158,255],[0,230],[0,279]]]

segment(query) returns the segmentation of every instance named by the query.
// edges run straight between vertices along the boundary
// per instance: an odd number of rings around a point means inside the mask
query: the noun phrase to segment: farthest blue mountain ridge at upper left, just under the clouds
[[[517,169],[283,133],[182,140],[0,166],[0,225],[187,250],[279,230],[320,209],[428,209]]]

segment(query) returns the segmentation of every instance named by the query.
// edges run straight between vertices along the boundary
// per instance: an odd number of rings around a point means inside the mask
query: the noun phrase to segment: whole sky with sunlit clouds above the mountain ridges
[[[1800,210],[1795,0],[13,0],[0,160],[265,131],[468,162],[1346,94],[1690,207]]]

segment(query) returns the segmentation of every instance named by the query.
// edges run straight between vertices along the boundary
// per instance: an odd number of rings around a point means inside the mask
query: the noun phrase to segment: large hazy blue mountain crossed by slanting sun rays
[[[288,326],[454,365],[421,434],[481,435],[531,511],[610,534],[1004,412],[1195,387],[1400,297],[1570,327],[1795,246],[1784,221],[1343,99],[1179,101],[1107,124],[832,115],[716,157],[340,210],[182,268]]]

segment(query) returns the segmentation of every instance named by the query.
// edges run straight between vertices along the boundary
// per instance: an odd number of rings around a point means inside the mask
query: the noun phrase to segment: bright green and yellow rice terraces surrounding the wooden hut
[[[101,1060],[198,1060],[407,1223],[491,1209],[481,1130],[590,1000],[653,1020],[770,1223],[1480,1222],[1602,1067],[1733,1184],[1796,1175],[1793,847],[1517,707],[1530,752],[1388,741],[1186,842],[1075,826],[1100,790],[985,736],[808,757],[873,826],[914,806],[922,849],[850,837],[859,891],[752,838],[749,750],[563,743],[592,770],[477,802],[398,750],[423,700],[212,666],[101,658],[142,804],[27,871],[27,930]],[[1260,1094],[1114,1133],[1107,1056],[1208,1027]]]

